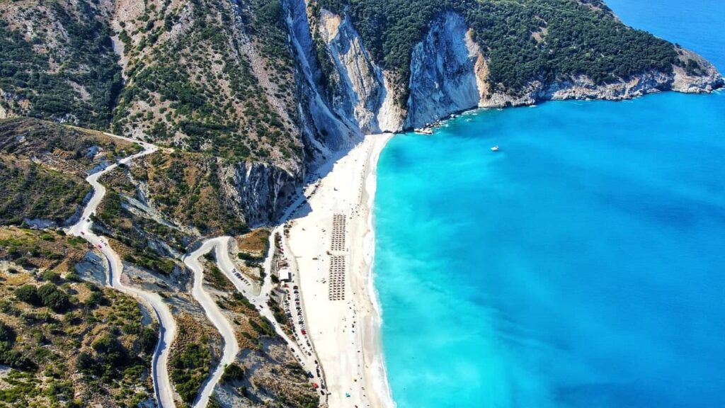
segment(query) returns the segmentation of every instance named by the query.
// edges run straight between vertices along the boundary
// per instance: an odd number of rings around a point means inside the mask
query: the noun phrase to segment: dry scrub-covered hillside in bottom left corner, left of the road
[[[1,407],[135,407],[157,341],[133,298],[80,282],[86,242],[0,228]]]

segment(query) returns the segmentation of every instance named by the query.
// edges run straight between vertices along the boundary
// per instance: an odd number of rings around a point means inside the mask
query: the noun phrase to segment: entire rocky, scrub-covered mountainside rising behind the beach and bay
[[[364,134],[474,107],[723,85],[702,57],[626,28],[600,1],[559,3],[2,3],[0,117],[112,128],[207,155],[223,200],[257,225]]]

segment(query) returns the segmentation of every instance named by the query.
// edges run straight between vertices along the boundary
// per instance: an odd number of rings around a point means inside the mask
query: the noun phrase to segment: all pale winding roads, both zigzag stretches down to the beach
[[[175,319],[171,314],[171,311],[168,308],[167,304],[164,303],[158,293],[141,290],[137,287],[131,287],[121,282],[121,274],[123,274],[123,262],[121,261],[120,256],[118,256],[115,250],[113,250],[108,245],[108,240],[105,237],[94,234],[94,232],[91,230],[92,223],[89,219],[91,215],[94,215],[96,213],[98,206],[103,200],[103,197],[106,195],[106,187],[104,187],[99,182],[101,176],[109,173],[110,171],[113,171],[120,164],[125,165],[130,163],[130,161],[133,159],[156,152],[158,150],[158,147],[150,143],[141,142],[135,139],[118,136],[115,134],[107,133],[107,136],[112,136],[117,139],[123,139],[128,142],[138,143],[142,147],[144,147],[144,150],[136,153],[135,155],[130,155],[127,158],[123,158],[117,163],[113,163],[112,165],[107,166],[102,171],[96,172],[86,177],[86,181],[88,181],[88,183],[91,184],[91,187],[93,187],[94,189],[93,195],[91,196],[91,199],[88,200],[86,208],[83,209],[83,214],[80,217],[80,220],[78,220],[78,222],[73,224],[71,227],[67,228],[66,232],[68,234],[82,237],[88,243],[93,245],[94,248],[98,248],[101,251],[103,256],[108,261],[109,277],[107,284],[110,287],[113,287],[114,289],[119,290],[122,293],[132,295],[139,301],[143,302],[147,307],[152,309],[154,311],[154,314],[156,314],[157,320],[159,322],[159,342],[157,343],[156,349],[154,350],[154,356],[152,359],[152,379],[154,383],[154,393],[156,395],[156,399],[159,403],[160,408],[175,408],[174,388],[171,385],[167,367],[169,348],[171,346],[171,343],[173,343],[176,335]],[[282,217],[282,219],[286,219],[287,217],[289,217],[291,209],[292,208],[289,208],[289,210],[286,211],[286,214]],[[224,373],[224,368],[228,364],[234,362],[234,360],[236,359],[236,355],[239,353],[239,343],[237,343],[236,335],[234,334],[231,323],[223,315],[217,303],[215,303],[210,295],[204,290],[204,268],[199,262],[199,257],[204,255],[205,253],[210,252],[210,250],[212,249],[215,250],[217,264],[223,274],[225,274],[225,276],[233,283],[234,287],[236,287],[236,289],[239,290],[242,295],[244,295],[252,304],[254,304],[254,306],[257,307],[257,310],[260,311],[260,314],[262,316],[269,319],[270,322],[273,322],[273,326],[277,335],[285,340],[287,346],[289,346],[289,348],[291,349],[292,354],[294,354],[295,358],[297,358],[299,363],[302,364],[303,369],[306,372],[315,372],[317,364],[315,364],[314,354],[313,356],[308,356],[299,348],[299,345],[295,340],[289,338],[289,336],[281,329],[279,323],[276,321],[273,312],[267,306],[270,292],[273,289],[270,278],[271,253],[273,251],[274,245],[273,237],[274,234],[280,229],[280,227],[273,229],[273,233],[270,236],[270,255],[268,256],[268,259],[265,260],[265,272],[267,272],[267,276],[265,277],[265,281],[262,284],[260,293],[257,295],[252,293],[252,291],[250,290],[251,286],[249,286],[247,282],[244,282],[244,280],[237,277],[235,274],[236,268],[229,256],[229,240],[231,240],[231,237],[223,236],[204,240],[204,242],[198,249],[194,250],[194,252],[188,254],[183,258],[184,264],[186,264],[186,266],[188,266],[188,268],[191,269],[191,271],[194,273],[194,286],[192,287],[191,294],[202,306],[202,309],[204,309],[204,313],[207,315],[207,318],[210,319],[210,321],[219,331],[220,335],[224,340],[224,349],[222,358],[220,359],[220,363],[212,372],[210,377],[207,378],[207,381],[204,383],[202,390],[199,391],[199,395],[196,397],[196,401],[194,402],[194,408],[204,408],[207,406],[215,386],[219,383],[219,380]]]

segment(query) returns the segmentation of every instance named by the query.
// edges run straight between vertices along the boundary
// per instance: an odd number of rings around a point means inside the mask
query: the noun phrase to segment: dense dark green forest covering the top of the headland
[[[597,83],[643,70],[671,72],[676,52],[667,41],[619,22],[600,0],[320,0],[347,7],[366,46],[399,81],[410,76],[410,55],[428,24],[457,12],[489,58],[497,91],[519,91],[529,81],[585,75]]]

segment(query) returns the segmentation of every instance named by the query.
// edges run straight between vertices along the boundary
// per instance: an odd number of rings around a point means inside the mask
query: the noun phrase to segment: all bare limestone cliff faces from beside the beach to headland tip
[[[262,163],[234,167],[232,195],[250,225],[273,221],[307,173],[321,160],[357,144],[364,134],[418,128],[476,107],[533,105],[551,99],[618,100],[664,90],[703,92],[722,86],[722,77],[712,65],[697,54],[677,49],[682,61],[697,61],[700,72],[688,75],[674,67],[672,73],[647,71],[605,85],[585,76],[559,78],[554,83],[532,78],[518,94],[494,91],[486,55],[473,41],[463,17],[449,12],[431,22],[415,45],[407,81],[410,94],[402,106],[397,102],[404,91],[402,84],[376,64],[349,17],[326,10],[313,15],[305,0],[283,0],[283,7],[296,68],[304,165],[295,171]],[[329,58],[328,72],[318,62],[320,44]]]

